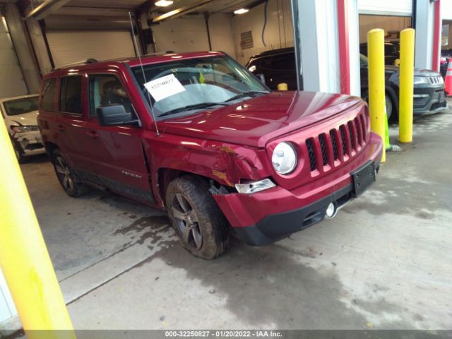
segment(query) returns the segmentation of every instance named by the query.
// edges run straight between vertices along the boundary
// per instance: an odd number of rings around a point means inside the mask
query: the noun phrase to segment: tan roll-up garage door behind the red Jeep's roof
[[[55,67],[85,61],[119,59],[135,56],[129,31],[64,31],[46,32]]]

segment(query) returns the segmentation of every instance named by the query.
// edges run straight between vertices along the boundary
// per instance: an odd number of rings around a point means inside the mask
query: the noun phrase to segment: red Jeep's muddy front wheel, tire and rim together
[[[213,259],[229,244],[227,220],[200,177],[184,176],[169,183],[165,200],[179,242],[194,256]]]

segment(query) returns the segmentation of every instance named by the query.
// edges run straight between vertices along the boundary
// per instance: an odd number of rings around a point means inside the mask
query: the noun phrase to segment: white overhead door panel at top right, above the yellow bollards
[[[358,0],[359,14],[411,16],[412,0]]]

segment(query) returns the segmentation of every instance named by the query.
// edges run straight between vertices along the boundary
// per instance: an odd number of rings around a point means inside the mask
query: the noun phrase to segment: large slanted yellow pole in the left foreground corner
[[[4,119],[0,159],[0,268],[25,334],[28,339],[75,339]]]

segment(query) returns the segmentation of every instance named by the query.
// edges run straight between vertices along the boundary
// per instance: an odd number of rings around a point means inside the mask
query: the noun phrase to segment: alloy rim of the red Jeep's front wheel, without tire
[[[203,236],[198,216],[189,201],[182,194],[174,194],[171,210],[177,230],[184,242],[194,249],[201,249]]]

